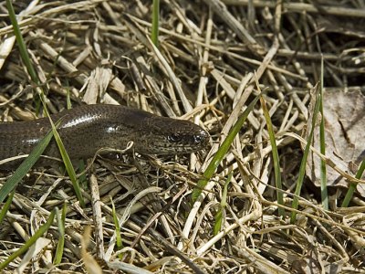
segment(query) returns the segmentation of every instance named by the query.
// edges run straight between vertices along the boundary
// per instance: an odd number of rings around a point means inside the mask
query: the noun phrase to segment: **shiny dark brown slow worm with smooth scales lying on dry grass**
[[[209,134],[191,121],[161,117],[150,112],[115,105],[85,105],[51,116],[60,120],[58,132],[71,159],[90,158],[101,148],[133,149],[141,154],[178,154],[202,150]],[[0,160],[28,154],[51,130],[48,118],[0,122]],[[44,153],[59,158],[55,141]],[[19,161],[0,165],[13,169]],[[47,162],[42,161],[41,165]]]

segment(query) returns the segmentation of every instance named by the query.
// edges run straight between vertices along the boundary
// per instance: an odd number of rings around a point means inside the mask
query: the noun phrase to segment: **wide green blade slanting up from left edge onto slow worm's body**
[[[53,136],[53,132],[50,131],[47,135],[36,144],[36,147],[29,154],[28,157],[18,166],[16,172],[5,182],[3,187],[0,189],[0,203],[3,203],[6,195],[8,195],[17,184],[23,179],[23,177],[29,172],[32,166],[39,159],[40,155],[47,148],[48,143],[51,141]]]

